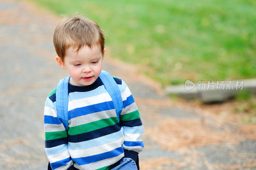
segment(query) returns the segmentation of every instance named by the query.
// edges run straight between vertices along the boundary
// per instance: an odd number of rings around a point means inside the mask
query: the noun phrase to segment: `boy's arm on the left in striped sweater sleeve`
[[[52,169],[68,169],[73,165],[68,152],[68,135],[57,117],[56,102],[52,102],[52,96],[51,99],[47,97],[44,106],[45,151]]]

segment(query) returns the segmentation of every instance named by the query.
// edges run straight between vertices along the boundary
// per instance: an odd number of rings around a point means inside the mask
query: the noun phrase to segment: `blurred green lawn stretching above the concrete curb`
[[[85,13],[107,32],[111,57],[148,66],[141,72],[163,86],[256,75],[255,0],[33,1]]]

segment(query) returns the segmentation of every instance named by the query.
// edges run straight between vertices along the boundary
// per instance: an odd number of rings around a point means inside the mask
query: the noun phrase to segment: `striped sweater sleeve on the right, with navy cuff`
[[[132,93],[123,80],[121,96],[124,103],[124,108],[120,114],[120,123],[124,128],[124,157],[136,161],[137,155],[144,147],[142,142],[144,129]]]

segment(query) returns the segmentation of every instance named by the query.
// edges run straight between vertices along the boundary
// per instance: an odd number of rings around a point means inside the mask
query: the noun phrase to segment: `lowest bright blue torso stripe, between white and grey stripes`
[[[92,155],[92,156],[88,156],[88,157],[82,157],[82,158],[72,158],[78,165],[84,165],[84,164],[90,164],[92,162],[97,162],[103,159],[108,159],[108,158],[113,158],[116,157],[118,155],[121,155],[122,153],[124,153],[124,149],[123,147],[119,147],[116,149],[113,149],[112,151],[108,151],[105,153],[100,153],[97,155]]]

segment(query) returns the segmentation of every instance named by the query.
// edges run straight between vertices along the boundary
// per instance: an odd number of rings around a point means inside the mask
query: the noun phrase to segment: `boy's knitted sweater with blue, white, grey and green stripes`
[[[132,94],[114,77],[124,103],[120,122],[100,78],[89,86],[68,84],[68,131],[57,117],[56,88],[44,107],[45,150],[52,169],[109,169],[143,149],[143,126]]]

